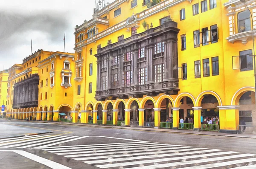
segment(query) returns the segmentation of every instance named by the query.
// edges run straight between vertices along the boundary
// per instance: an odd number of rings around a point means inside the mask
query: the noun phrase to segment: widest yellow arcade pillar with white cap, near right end
[[[239,106],[218,106],[220,131],[237,133],[239,131]]]

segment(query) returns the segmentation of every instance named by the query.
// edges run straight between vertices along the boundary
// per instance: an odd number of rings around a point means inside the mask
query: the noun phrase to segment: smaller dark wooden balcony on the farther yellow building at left
[[[37,74],[15,83],[12,108],[38,107],[38,84]]]

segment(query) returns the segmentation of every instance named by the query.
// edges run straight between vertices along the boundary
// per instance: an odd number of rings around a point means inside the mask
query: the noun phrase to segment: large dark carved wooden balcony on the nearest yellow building
[[[177,94],[177,23],[166,22],[101,48],[97,54],[96,100]]]

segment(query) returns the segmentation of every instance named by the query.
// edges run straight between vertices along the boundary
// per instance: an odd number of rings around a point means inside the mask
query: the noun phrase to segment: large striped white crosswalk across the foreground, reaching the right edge
[[[44,151],[101,169],[255,169],[256,155],[156,142],[48,146]]]

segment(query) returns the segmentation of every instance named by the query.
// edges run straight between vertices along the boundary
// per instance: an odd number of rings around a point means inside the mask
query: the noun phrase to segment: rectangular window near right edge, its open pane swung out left
[[[250,56],[252,54],[253,51],[251,49],[239,52],[241,71],[253,70],[253,57]]]

